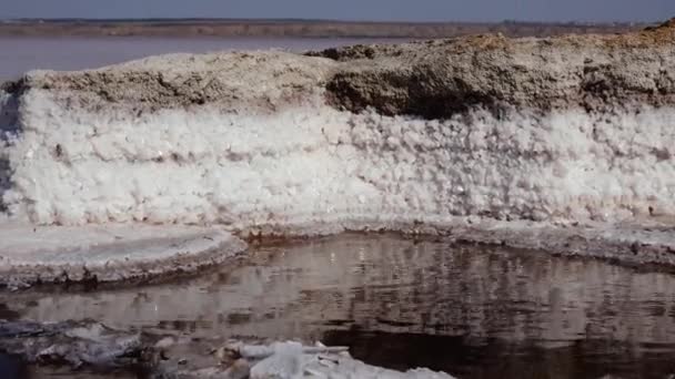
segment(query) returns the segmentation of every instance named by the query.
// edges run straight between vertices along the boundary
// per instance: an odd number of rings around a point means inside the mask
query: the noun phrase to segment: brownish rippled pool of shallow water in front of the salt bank
[[[675,277],[588,259],[342,235],[264,247],[180,283],[3,294],[2,315],[93,318],[194,337],[346,345],[374,365],[461,378],[675,373]]]

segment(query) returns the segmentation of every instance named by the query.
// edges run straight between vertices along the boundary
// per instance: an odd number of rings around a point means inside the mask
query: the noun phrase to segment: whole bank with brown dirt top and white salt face
[[[544,228],[560,236],[553,250],[583,235],[598,253],[578,254],[672,265],[674,42],[671,21],[611,37],[31,72],[3,88],[2,208],[10,223],[198,224],[244,236],[394,229],[480,240],[497,227],[514,236],[501,243],[523,247],[554,245],[518,237]]]

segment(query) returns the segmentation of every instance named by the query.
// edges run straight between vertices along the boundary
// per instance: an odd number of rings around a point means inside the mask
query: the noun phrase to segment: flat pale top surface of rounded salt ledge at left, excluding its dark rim
[[[185,252],[202,252],[231,244],[244,247],[231,235],[202,227],[152,225],[90,225],[85,227],[0,227],[3,265],[87,265],[118,262],[153,262]],[[112,259],[111,259],[112,257]]]

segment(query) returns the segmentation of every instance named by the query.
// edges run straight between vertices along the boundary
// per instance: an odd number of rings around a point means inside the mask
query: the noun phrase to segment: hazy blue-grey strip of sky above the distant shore
[[[0,0],[0,18],[656,21],[675,0]]]

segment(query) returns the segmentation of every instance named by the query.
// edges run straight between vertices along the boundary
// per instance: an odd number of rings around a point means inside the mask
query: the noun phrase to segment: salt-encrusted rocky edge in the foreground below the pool
[[[7,354],[20,358],[16,365],[69,366],[73,373],[127,370],[157,379],[453,379],[447,373],[427,369],[400,372],[370,366],[351,358],[342,348],[303,347],[298,342],[240,344],[236,351],[240,358],[223,363],[203,357],[203,346],[199,340],[192,340],[182,346],[199,362],[191,365],[188,359],[175,357],[172,347],[159,348],[158,339],[160,336],[152,332],[130,332],[89,320],[53,324],[0,320],[0,349],[3,352],[0,357]],[[250,351],[263,355],[246,354]]]

